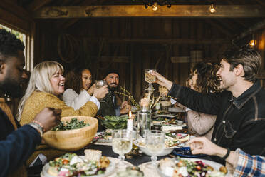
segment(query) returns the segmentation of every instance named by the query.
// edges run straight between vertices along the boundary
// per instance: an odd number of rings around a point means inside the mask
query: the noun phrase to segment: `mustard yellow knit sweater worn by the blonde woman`
[[[28,98],[24,105],[24,109],[21,114],[21,125],[30,123],[35,116],[43,110],[43,108],[60,108],[62,110],[61,116],[95,116],[98,111],[98,107],[95,103],[88,101],[78,110],[74,110],[72,107],[66,106],[61,99],[51,93],[44,93],[41,91],[34,91]],[[28,159],[27,166],[38,156],[39,153],[43,153],[48,158],[48,161],[55,157],[61,156],[63,151],[58,151],[47,146],[38,146],[33,155]]]

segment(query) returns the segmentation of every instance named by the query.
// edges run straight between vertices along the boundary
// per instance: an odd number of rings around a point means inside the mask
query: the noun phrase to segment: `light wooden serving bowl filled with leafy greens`
[[[43,134],[43,139],[53,148],[76,151],[88,145],[97,131],[97,118],[88,116],[62,117],[58,126]]]

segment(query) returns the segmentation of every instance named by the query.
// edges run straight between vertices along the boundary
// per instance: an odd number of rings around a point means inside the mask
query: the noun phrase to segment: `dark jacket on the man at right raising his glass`
[[[212,135],[217,145],[265,156],[265,90],[259,81],[238,98],[229,91],[204,95],[177,84],[170,96],[194,111],[217,115]]]

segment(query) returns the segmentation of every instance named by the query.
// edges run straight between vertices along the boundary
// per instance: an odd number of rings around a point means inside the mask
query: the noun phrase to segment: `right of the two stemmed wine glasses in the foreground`
[[[157,130],[145,131],[145,148],[152,154],[152,165],[156,166],[157,154],[165,147],[165,133]]]

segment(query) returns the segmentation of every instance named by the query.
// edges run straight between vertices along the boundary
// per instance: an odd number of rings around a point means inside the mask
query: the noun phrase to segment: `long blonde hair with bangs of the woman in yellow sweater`
[[[34,67],[31,73],[31,78],[28,82],[26,93],[19,102],[19,112],[17,115],[18,121],[20,121],[24,104],[33,91],[42,91],[51,94],[54,93],[53,87],[51,86],[51,77],[59,70],[63,72],[63,66],[56,61],[43,61]]]

